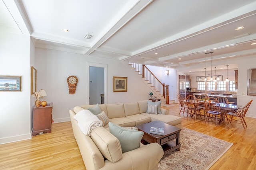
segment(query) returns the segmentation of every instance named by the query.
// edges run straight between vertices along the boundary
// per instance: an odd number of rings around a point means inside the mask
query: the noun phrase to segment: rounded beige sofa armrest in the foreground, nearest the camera
[[[140,148],[123,153],[122,159],[112,163],[105,160],[100,170],[157,170],[164,151],[158,143],[150,143]]]

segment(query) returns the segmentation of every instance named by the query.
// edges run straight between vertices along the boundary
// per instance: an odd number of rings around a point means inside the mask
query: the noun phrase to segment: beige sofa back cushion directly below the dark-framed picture
[[[124,104],[107,104],[108,118],[125,117]]]

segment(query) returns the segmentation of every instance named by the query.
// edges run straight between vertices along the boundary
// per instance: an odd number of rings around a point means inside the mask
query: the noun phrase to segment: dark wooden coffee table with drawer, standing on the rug
[[[144,132],[144,135],[142,137],[143,144],[158,143],[162,146],[164,153],[173,150],[180,150],[180,128],[168,125],[167,123],[164,123],[162,121],[152,121],[149,123],[136,125],[135,127],[138,127],[139,131]],[[149,133],[150,127],[164,128],[164,135],[155,135]],[[176,140],[174,141],[174,139]]]

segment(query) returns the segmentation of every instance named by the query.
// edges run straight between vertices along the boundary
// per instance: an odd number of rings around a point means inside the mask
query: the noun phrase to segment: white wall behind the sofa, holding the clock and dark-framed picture
[[[36,48],[38,89],[46,90],[47,102],[53,102],[54,122],[69,121],[69,110],[75,106],[88,104],[87,63],[108,65],[106,97],[108,104],[147,100],[150,89],[142,82],[141,76],[131,66],[121,61],[100,59],[73,53]],[[68,93],[67,78],[78,78],[76,94]],[[127,77],[128,92],[113,92],[113,76]]]

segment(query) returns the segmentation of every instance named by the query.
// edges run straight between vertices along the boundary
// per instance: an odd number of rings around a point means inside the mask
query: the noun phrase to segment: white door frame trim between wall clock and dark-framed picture
[[[107,78],[107,75],[108,75],[108,64],[101,64],[101,63],[92,63],[92,62],[87,62],[87,99],[86,99],[86,104],[89,104],[90,103],[90,66],[93,66],[93,67],[102,67],[104,68],[104,104],[108,104],[108,92],[107,92],[107,89],[108,89],[108,78]]]

